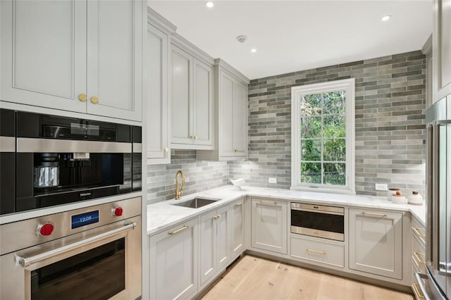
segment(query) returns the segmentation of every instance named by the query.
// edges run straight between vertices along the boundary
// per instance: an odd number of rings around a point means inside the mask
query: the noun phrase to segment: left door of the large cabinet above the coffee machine
[[[0,1],[1,100],[86,112],[86,1]]]

